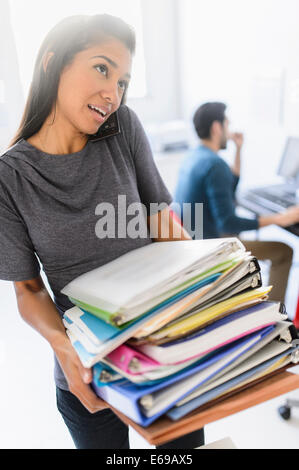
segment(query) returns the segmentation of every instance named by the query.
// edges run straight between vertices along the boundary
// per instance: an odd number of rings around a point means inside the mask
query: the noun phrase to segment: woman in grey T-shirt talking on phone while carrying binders
[[[134,33],[115,17],[74,16],[56,25],[40,48],[20,128],[0,161],[0,278],[14,282],[22,318],[55,353],[57,405],[77,448],[128,448],[128,429],[89,386],[92,372],[61,320],[72,304],[60,291],[130,250],[174,239],[176,228],[168,207],[149,211],[171,197],[138,118],[124,105],[134,50]],[[118,195],[127,206],[145,205],[157,238],[97,236],[97,205],[115,207]],[[170,234],[162,238],[165,228]],[[183,229],[180,238],[190,239]],[[202,443],[200,430],[165,447]]]

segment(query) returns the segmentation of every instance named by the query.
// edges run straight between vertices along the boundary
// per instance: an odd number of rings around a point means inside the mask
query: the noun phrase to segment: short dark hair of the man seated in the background
[[[226,105],[214,102],[202,104],[193,116],[193,124],[200,139],[211,137],[211,127],[214,121],[223,124],[225,119]]]

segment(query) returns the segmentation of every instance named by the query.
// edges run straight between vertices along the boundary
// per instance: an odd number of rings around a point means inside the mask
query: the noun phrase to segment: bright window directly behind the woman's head
[[[141,98],[146,95],[140,0],[10,0],[10,9],[25,97],[28,94],[38,49],[47,32],[66,16],[101,13],[118,16],[134,28],[137,45],[128,98]]]

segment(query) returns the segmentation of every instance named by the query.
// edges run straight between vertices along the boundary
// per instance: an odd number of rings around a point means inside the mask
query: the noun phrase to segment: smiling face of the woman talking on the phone
[[[95,134],[120,106],[131,64],[130,51],[117,39],[76,54],[60,77],[55,120],[75,133]]]

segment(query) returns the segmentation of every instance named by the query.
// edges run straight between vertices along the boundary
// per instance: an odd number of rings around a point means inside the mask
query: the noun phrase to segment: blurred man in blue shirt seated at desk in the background
[[[229,132],[225,111],[224,103],[214,102],[203,104],[195,112],[193,124],[201,142],[183,161],[174,201],[181,208],[183,203],[190,203],[193,223],[195,204],[203,203],[203,238],[236,236],[240,232],[257,230],[271,224],[287,227],[299,222],[299,206],[255,219],[236,215],[235,192],[240,178],[243,135]],[[226,148],[228,139],[232,139],[236,145],[231,168],[218,155],[219,150]],[[292,265],[292,248],[281,242],[242,242],[247,251],[251,251],[259,260],[271,261],[269,285],[273,289],[270,297],[272,300],[284,301]]]

